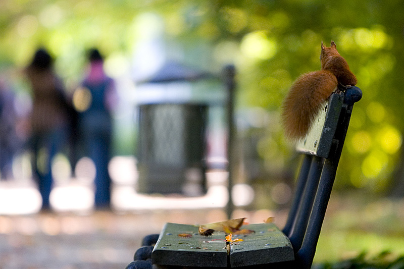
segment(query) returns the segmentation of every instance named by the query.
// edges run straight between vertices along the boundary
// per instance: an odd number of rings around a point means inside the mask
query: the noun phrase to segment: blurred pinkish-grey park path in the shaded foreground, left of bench
[[[255,213],[250,218],[259,220],[267,214]],[[159,233],[164,223],[197,224],[225,218],[222,209],[0,216],[0,268],[125,268],[141,239]]]

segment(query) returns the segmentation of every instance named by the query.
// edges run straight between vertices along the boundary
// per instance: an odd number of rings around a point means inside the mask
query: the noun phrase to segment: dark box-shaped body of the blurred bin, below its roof
[[[208,105],[150,103],[138,109],[138,192],[204,194]]]

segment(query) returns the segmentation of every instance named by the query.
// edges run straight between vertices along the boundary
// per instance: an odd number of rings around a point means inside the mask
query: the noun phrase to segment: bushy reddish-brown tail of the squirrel
[[[296,79],[282,106],[282,123],[290,140],[304,138],[321,105],[336,90],[337,78],[327,70],[303,74]]]

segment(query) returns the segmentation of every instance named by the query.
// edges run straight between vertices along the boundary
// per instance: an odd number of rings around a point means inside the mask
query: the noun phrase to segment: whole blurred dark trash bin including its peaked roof
[[[138,192],[206,193],[208,115],[221,99],[221,84],[210,73],[175,62],[141,83],[139,94],[145,98],[137,105]]]

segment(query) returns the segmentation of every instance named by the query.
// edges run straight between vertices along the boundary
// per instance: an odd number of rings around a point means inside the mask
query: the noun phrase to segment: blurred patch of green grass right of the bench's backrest
[[[402,268],[398,266],[404,254],[401,207],[402,200],[381,199],[362,190],[334,193],[314,268]]]

